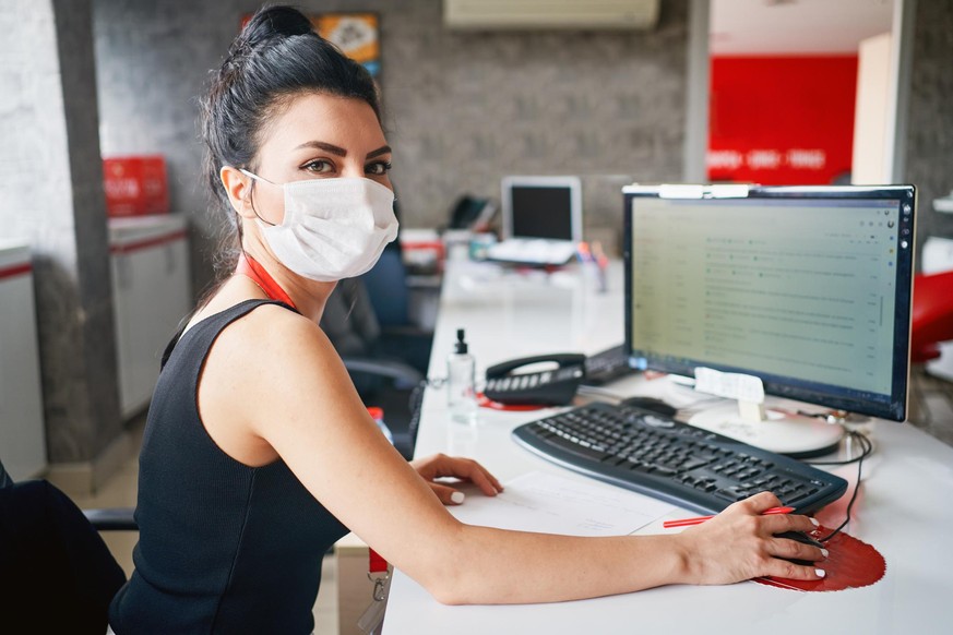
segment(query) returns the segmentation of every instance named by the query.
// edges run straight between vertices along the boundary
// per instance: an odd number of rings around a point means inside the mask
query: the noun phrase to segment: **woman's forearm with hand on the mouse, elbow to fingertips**
[[[771,493],[736,503],[716,518],[666,536],[582,538],[461,525],[440,537],[439,579],[418,579],[444,603],[528,603],[631,592],[668,584],[730,584],[763,575],[819,579],[821,550],[773,538],[814,528],[805,516],[769,515]],[[412,572],[407,572],[415,577]]]

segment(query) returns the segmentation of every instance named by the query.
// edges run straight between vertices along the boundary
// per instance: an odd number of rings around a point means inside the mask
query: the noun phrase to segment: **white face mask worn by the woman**
[[[394,193],[370,179],[309,179],[281,187],[284,220],[267,225],[259,218],[258,224],[277,259],[299,276],[321,283],[359,276],[397,237]]]

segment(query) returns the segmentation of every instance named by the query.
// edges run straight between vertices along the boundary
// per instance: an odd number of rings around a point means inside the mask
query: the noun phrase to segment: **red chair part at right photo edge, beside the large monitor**
[[[939,344],[953,339],[953,271],[914,277],[910,322],[910,361],[940,357]]]

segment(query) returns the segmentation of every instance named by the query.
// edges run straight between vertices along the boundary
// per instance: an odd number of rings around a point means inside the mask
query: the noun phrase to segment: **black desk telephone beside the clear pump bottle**
[[[487,369],[484,395],[500,404],[565,406],[585,378],[586,356],[577,352],[538,355],[504,361]],[[517,373],[521,368],[555,363],[556,369]]]

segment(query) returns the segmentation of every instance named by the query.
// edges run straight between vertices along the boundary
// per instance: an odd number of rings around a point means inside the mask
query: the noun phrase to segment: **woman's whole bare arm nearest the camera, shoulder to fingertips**
[[[228,421],[250,446],[274,448],[342,523],[443,602],[559,601],[769,574],[810,579],[813,567],[772,556],[821,558],[772,537],[813,526],[761,516],[778,504],[771,494],[681,535],[579,538],[461,524],[379,432],[323,333],[283,309],[263,307],[223,333],[199,396],[210,433]]]

